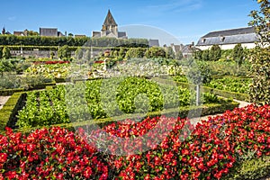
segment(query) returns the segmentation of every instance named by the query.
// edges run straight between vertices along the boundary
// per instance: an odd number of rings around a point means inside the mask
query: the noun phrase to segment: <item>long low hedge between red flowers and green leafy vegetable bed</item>
[[[183,118],[186,117],[188,114],[191,117],[199,117],[199,116],[205,116],[205,115],[212,115],[214,113],[220,113],[220,112],[225,112],[226,110],[233,110],[234,108],[238,107],[239,103],[237,102],[225,102],[221,103],[221,104],[216,104],[216,103],[212,103],[212,104],[204,104],[201,107],[196,107],[196,106],[188,106],[188,107],[180,107],[178,108],[173,108],[173,109],[168,109],[166,111],[162,112],[162,115],[166,115],[169,116],[170,114],[174,114],[175,112],[178,112],[178,116]],[[202,113],[201,113],[202,112]],[[147,116],[149,117],[155,117],[155,116],[160,116],[161,112],[148,112]],[[115,116],[112,118],[105,118],[105,119],[98,119],[98,120],[89,120],[89,121],[77,121],[77,122],[71,122],[71,123],[62,123],[62,124],[53,124],[53,125],[49,125],[49,126],[43,126],[45,128],[49,128],[49,127],[60,127],[60,128],[65,128],[67,130],[72,130],[75,131],[75,129],[79,128],[79,127],[84,127],[84,126],[91,126],[91,125],[98,125],[100,127],[103,127],[105,125],[107,125],[108,123],[111,123],[112,121],[121,121],[121,120],[126,120],[126,119],[130,119],[130,118],[134,118],[134,117],[144,117],[146,116],[145,114],[141,114],[141,113],[137,113],[137,114],[125,114],[125,115],[121,115],[121,116]],[[33,127],[33,128],[29,128],[29,129],[23,129],[23,130],[19,130],[17,129],[17,131],[21,131],[23,133],[29,133],[31,132],[31,130],[36,130],[36,129],[40,129],[41,127]],[[16,130],[14,130],[16,131]]]

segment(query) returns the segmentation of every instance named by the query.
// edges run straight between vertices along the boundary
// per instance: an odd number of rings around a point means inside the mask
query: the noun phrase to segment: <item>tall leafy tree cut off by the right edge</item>
[[[250,99],[253,103],[270,104],[270,3],[268,0],[257,0],[259,11],[252,11],[249,16],[259,36],[257,47],[251,51],[253,83],[250,85]]]

